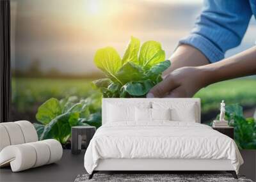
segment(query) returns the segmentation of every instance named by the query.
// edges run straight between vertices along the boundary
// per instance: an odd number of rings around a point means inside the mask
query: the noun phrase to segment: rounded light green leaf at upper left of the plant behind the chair
[[[38,108],[36,119],[40,123],[47,124],[60,114],[60,102],[56,98],[50,98]]]

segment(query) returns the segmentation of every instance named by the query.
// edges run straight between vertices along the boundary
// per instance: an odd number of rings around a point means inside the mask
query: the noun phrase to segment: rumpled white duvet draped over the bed
[[[238,173],[243,158],[234,140],[210,126],[191,122],[116,122],[101,126],[84,155],[89,174],[99,159],[193,158],[229,159]]]

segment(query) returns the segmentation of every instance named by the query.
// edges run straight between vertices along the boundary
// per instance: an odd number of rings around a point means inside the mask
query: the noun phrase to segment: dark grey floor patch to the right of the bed
[[[239,169],[239,174],[243,174],[248,179],[256,181],[256,150],[240,149],[244,163]]]

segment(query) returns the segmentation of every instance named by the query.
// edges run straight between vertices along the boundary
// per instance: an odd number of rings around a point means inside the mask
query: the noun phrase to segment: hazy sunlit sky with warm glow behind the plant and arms
[[[11,0],[12,66],[28,68],[39,59],[42,70],[97,72],[97,49],[115,47],[122,56],[130,36],[157,40],[170,57],[180,38],[189,34],[201,0]],[[251,47],[255,22],[234,54]]]

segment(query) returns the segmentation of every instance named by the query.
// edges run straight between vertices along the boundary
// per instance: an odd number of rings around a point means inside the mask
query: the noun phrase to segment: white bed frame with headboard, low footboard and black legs
[[[200,123],[200,99],[199,98],[103,98],[102,100],[102,125],[106,123],[107,104],[116,102],[127,102],[136,105],[137,102],[152,102],[152,101],[168,101],[168,102],[194,102],[196,103],[196,122]],[[189,171],[226,171],[231,173],[237,179],[236,171],[230,160],[211,160],[211,159],[159,159],[159,158],[109,158],[99,160],[95,170],[90,174],[89,179],[92,179],[93,174],[102,171],[118,171],[118,172],[139,172],[147,171],[150,173],[163,172],[189,172]]]

